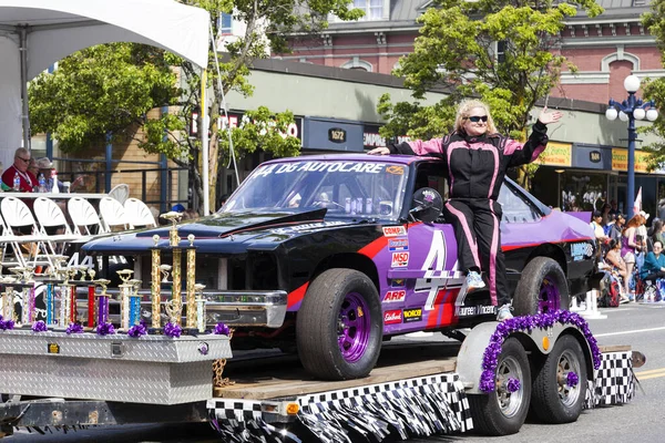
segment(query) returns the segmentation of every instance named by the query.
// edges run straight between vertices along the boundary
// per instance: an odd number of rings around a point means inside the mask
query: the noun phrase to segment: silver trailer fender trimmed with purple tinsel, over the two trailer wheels
[[[495,332],[498,324],[498,321],[480,323],[471,330],[462,342],[457,360],[457,373],[468,394],[484,394],[484,392],[479,389],[480,377],[483,371],[482,360],[484,351],[488,344],[490,344],[490,338]],[[530,354],[532,364],[542,364],[540,362],[542,359],[534,359],[531,356],[549,354],[554,348],[554,343],[562,334],[571,334],[580,342],[584,352],[586,373],[590,378],[593,378],[594,368],[591,348],[582,331],[572,324],[556,323],[546,329],[534,328],[531,332],[516,331],[511,333],[510,337],[520,340],[526,352]]]

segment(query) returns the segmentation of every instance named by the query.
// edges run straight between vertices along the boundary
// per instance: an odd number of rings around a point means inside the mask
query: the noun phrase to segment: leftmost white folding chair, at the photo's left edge
[[[30,212],[28,205],[16,197],[4,197],[0,202],[0,213],[4,219],[4,237],[7,237],[16,260],[30,264],[32,266],[48,265],[53,266],[53,256],[55,251],[48,238],[40,234],[37,222]],[[29,235],[20,235],[21,228],[29,228]],[[28,258],[23,257],[21,245],[34,244],[35,248],[29,247]],[[41,251],[41,254],[40,254]]]

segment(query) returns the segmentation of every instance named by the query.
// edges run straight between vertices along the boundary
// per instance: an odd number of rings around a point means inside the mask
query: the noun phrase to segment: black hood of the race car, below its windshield
[[[187,238],[193,235],[194,246],[200,253],[236,254],[246,250],[249,243],[260,243],[262,249],[275,249],[282,241],[303,233],[355,224],[351,220],[326,222],[326,208],[320,208],[306,212],[217,213],[177,225],[180,246],[188,246]],[[155,245],[158,248],[168,247],[170,230],[171,227],[160,227],[119,234],[91,240],[82,249],[86,254],[147,254]]]

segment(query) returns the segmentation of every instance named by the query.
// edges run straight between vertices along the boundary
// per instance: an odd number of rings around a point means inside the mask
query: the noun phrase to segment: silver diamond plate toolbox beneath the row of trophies
[[[58,343],[59,354],[48,353]],[[207,354],[198,351],[202,343]],[[112,357],[112,346],[120,357]],[[229,358],[225,336],[144,336],[0,331],[0,392],[150,404],[208,400],[212,360]]]

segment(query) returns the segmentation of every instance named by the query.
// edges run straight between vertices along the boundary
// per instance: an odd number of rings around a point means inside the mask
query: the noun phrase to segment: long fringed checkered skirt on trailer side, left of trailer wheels
[[[457,374],[437,374],[298,398],[298,419],[321,442],[381,441],[449,434],[473,427]],[[358,439],[359,440],[359,439]]]

